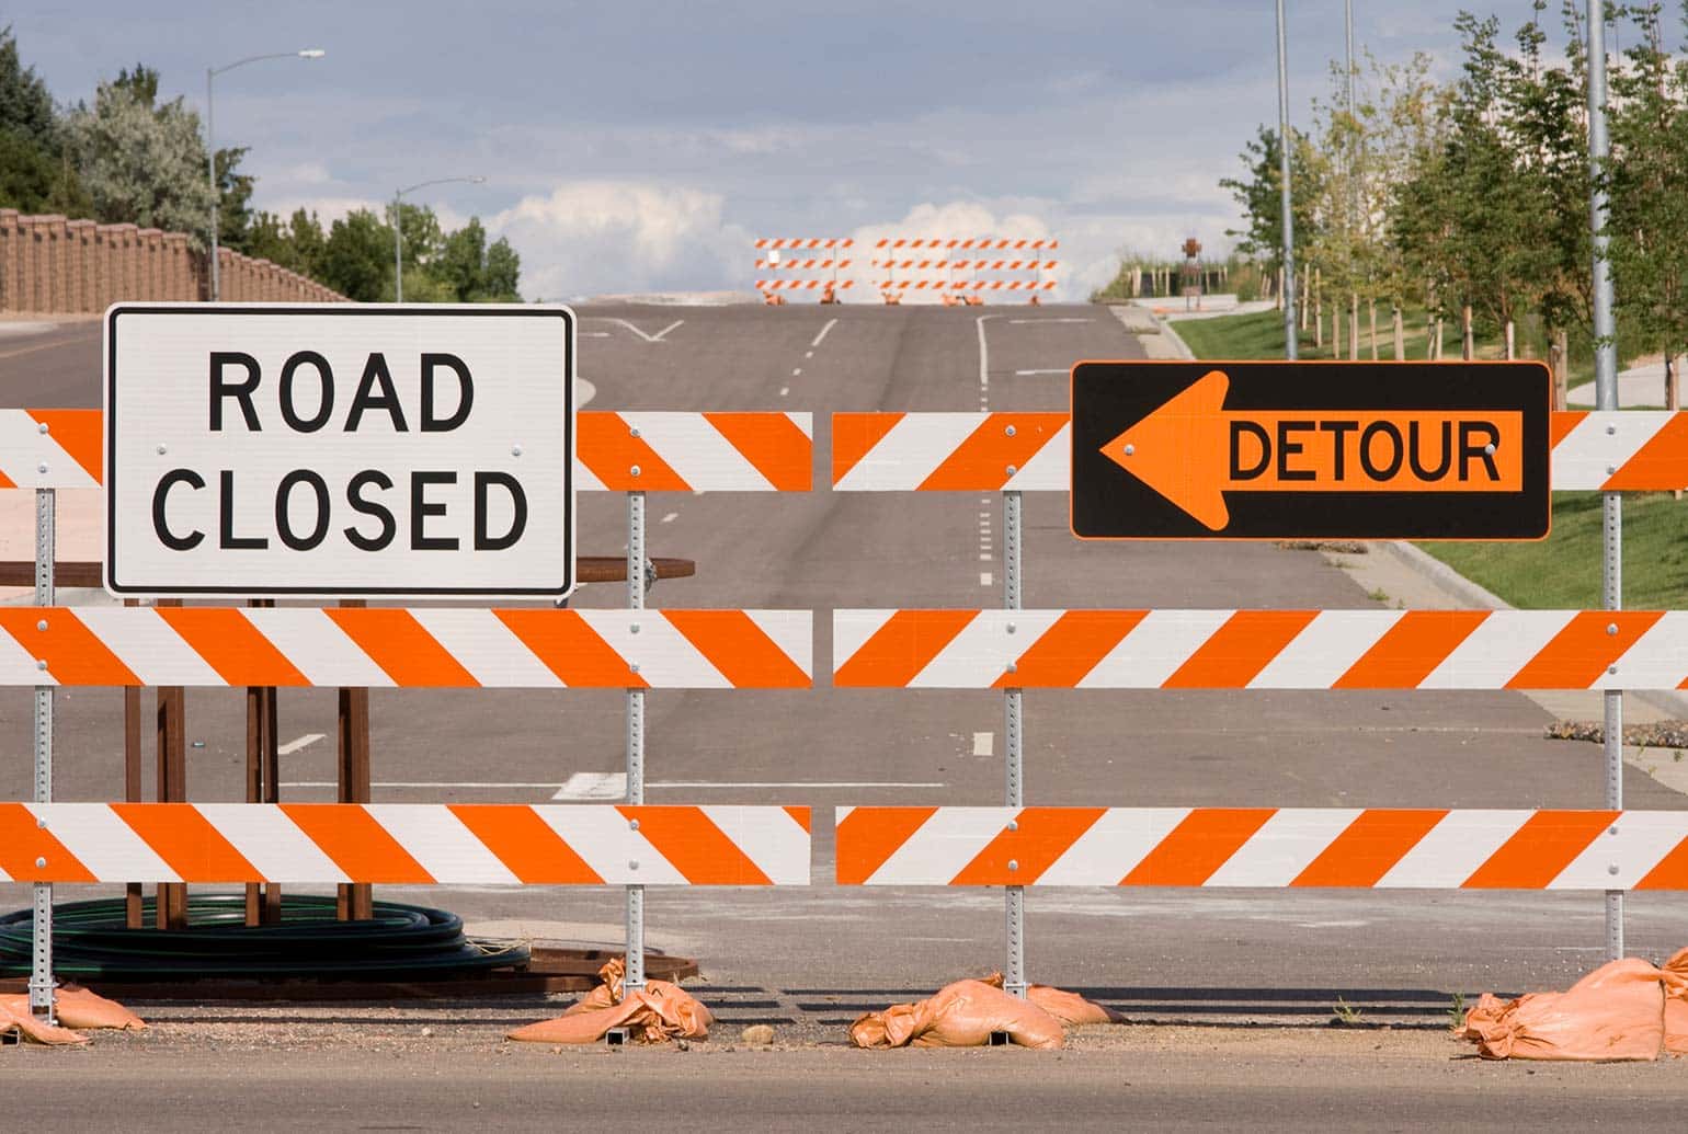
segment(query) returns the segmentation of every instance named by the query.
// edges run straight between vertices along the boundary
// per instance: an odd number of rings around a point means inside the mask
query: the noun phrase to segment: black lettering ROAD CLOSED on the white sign
[[[412,378],[403,385],[414,398],[400,397],[395,368]],[[279,373],[265,375],[245,351],[211,351],[206,392],[213,435],[282,430],[306,439],[334,430],[392,439],[451,434],[474,413],[474,375],[449,353],[388,359],[376,351],[363,359],[361,373],[336,375],[321,353],[297,351]],[[333,484],[312,467],[170,467],[157,479],[150,511],[155,538],[176,552],[208,538],[225,552],[314,552],[331,540],[356,552],[395,542],[415,552],[505,552],[528,521],[517,476],[451,467],[407,469],[395,478],[371,466]]]

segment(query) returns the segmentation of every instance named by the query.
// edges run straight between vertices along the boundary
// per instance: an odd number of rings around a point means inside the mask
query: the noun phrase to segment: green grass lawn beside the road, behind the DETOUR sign
[[[1364,314],[1364,312],[1362,312]],[[1379,312],[1382,314],[1382,312]],[[1283,314],[1192,319],[1173,329],[1197,358],[1283,358]],[[1393,356],[1393,336],[1379,331],[1379,358]],[[1416,331],[1416,338],[1415,338]],[[1458,354],[1457,334],[1443,329],[1443,349]],[[1345,344],[1344,344],[1345,346]],[[1371,348],[1361,334],[1366,359]],[[1408,317],[1406,354],[1423,358],[1423,317]],[[1479,356],[1499,354],[1496,343],[1479,343]],[[1303,334],[1301,358],[1330,358]],[[1344,351],[1345,354],[1345,351]],[[1573,373],[1572,383],[1580,378]],[[1426,552],[1512,606],[1536,609],[1599,609],[1602,510],[1599,493],[1555,493],[1553,535],[1538,543],[1423,543]],[[1624,496],[1624,606],[1632,609],[1688,608],[1688,500],[1669,493]]]

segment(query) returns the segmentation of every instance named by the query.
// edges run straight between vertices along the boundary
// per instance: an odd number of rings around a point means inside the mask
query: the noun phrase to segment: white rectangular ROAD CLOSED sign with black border
[[[574,314],[118,304],[106,589],[560,597],[574,589]]]

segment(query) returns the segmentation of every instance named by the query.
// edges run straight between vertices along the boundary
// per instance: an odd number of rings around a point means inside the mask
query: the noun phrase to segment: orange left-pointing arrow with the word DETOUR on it
[[[1225,493],[1516,493],[1524,415],[1516,410],[1237,410],[1212,370],[1102,452],[1214,532]]]

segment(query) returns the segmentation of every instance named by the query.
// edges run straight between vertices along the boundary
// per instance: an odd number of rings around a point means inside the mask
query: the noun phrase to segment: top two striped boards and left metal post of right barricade
[[[1551,439],[1555,489],[1688,486],[1688,413],[1555,413]],[[1678,688],[1688,678],[1688,650],[1673,645],[1688,629],[1681,613],[1020,609],[1020,494],[1070,491],[1070,469],[1062,412],[832,415],[834,491],[1003,493],[1004,609],[834,611],[834,685],[1004,690],[1009,807],[1025,803],[1028,687]],[[1020,991],[1023,891],[1004,884],[1004,972]]]

